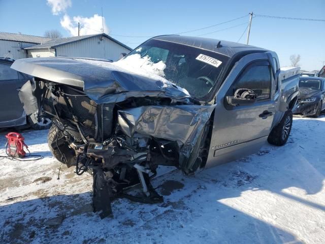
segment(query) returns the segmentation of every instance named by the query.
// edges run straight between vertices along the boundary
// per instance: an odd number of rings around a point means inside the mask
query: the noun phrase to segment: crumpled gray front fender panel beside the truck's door
[[[142,106],[118,111],[123,133],[135,133],[176,141],[180,154],[188,158],[204,129],[213,106]]]

